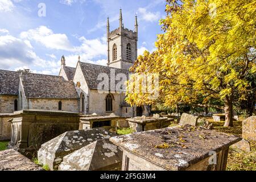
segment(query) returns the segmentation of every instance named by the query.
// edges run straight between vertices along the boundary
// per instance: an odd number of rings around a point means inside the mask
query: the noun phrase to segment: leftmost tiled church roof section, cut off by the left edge
[[[19,75],[20,72],[0,69],[0,95],[19,94]]]

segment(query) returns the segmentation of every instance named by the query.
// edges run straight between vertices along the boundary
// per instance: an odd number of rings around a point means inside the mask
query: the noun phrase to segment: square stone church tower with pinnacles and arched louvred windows
[[[137,59],[138,21],[135,16],[135,30],[123,26],[122,10],[119,13],[119,27],[110,32],[107,20],[108,66],[129,69]]]

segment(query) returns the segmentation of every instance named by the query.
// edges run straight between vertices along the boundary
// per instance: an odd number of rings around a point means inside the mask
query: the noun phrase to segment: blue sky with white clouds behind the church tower
[[[117,28],[120,8],[131,30],[138,14],[139,54],[152,51],[165,5],[164,0],[0,0],[0,69],[57,75],[62,55],[71,67],[79,55],[105,65],[106,18],[110,30]]]

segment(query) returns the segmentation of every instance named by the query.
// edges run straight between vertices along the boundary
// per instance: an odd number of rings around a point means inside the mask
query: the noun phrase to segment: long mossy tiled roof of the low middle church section
[[[78,98],[73,82],[60,76],[22,73],[22,85],[27,98]]]

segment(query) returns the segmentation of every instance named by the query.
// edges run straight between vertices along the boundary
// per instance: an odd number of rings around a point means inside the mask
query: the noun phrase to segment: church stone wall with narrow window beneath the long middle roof
[[[23,109],[59,110],[59,101],[62,102],[62,110],[79,113],[79,100],[77,99],[28,99],[28,105]],[[27,102],[25,102],[27,103]]]

